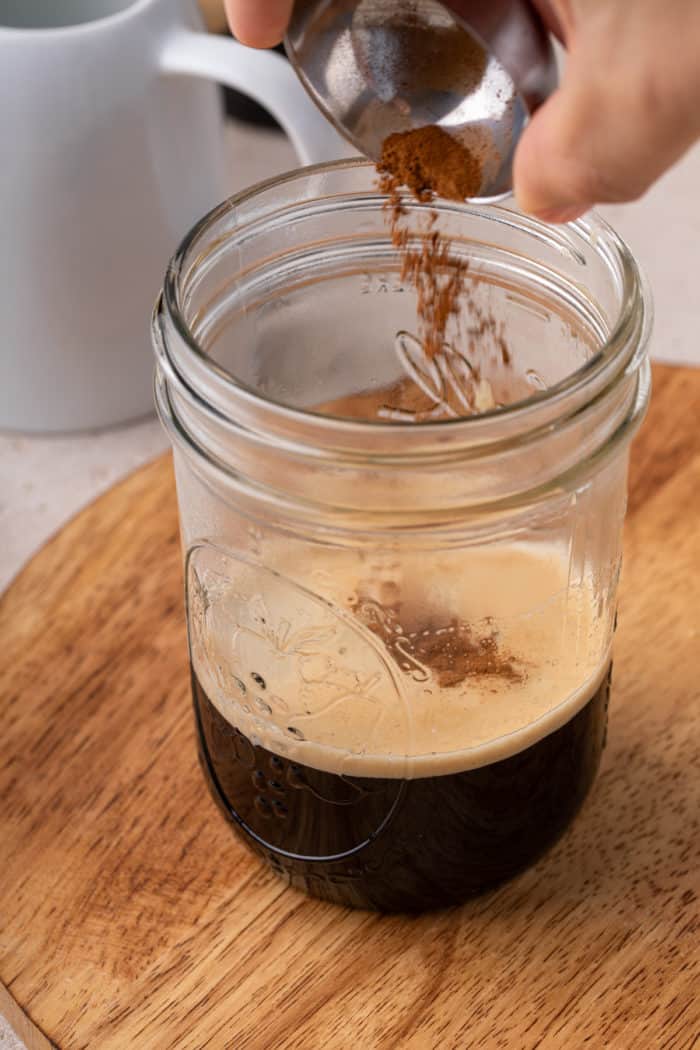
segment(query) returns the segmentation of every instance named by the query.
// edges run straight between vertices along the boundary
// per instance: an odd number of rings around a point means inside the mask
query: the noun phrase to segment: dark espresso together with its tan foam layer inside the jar
[[[304,568],[336,592],[305,620],[287,571],[251,568],[242,602],[239,569],[236,613],[209,607],[217,671],[197,656],[192,682],[214,798],[314,896],[397,911],[483,892],[556,841],[595,778],[610,657],[595,659],[594,593],[567,588],[558,552],[526,545],[438,555],[429,573],[404,558],[386,578],[380,558],[365,581],[325,558]],[[334,629],[343,595],[354,618]]]

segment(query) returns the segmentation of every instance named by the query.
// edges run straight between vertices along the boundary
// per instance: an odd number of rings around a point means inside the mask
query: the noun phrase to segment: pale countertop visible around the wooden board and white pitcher
[[[295,166],[277,132],[229,125],[231,192]],[[641,202],[603,210],[650,277],[653,356],[700,365],[700,147]],[[164,259],[164,265],[165,265]],[[82,506],[167,447],[155,418],[101,434],[0,435],[0,590]],[[21,1048],[0,1018],[0,1050]]]

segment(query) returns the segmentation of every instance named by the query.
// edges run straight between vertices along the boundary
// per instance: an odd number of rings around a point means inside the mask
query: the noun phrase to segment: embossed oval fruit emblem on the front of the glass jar
[[[372,748],[385,718],[411,753],[410,712],[378,640],[295,582],[211,546],[188,555],[187,600],[203,758],[219,801],[260,846],[306,860],[361,850],[391,819],[401,781],[328,778],[303,759],[334,747],[330,727],[346,706],[359,728],[340,765]]]

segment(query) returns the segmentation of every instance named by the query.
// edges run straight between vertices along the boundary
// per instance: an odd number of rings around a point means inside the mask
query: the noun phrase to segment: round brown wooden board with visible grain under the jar
[[[655,378],[601,775],[549,856],[459,909],[306,900],[230,833],[168,459],[38,554],[0,603],[0,1007],[35,1050],[700,1046],[700,371]]]

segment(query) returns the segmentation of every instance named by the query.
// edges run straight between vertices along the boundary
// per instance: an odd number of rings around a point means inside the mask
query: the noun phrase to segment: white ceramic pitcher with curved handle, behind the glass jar
[[[151,411],[164,265],[226,193],[207,79],[269,109],[301,163],[343,152],[281,56],[200,30],[194,0],[0,0],[0,427]]]

